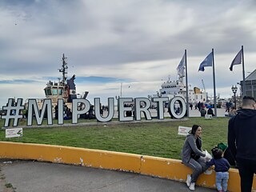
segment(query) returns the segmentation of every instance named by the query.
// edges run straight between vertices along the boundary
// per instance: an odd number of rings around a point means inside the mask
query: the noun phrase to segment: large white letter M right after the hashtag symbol
[[[36,99],[29,99],[28,102],[29,102],[29,107],[28,107],[27,126],[32,126],[33,115],[35,115],[35,119],[37,121],[38,126],[41,126],[42,119],[43,119],[45,112],[47,113],[47,124],[48,125],[53,124],[53,111],[51,109],[51,99],[50,98],[46,98],[43,100],[41,114],[39,114],[38,103],[37,103]],[[46,111],[46,107],[47,107],[47,111]]]

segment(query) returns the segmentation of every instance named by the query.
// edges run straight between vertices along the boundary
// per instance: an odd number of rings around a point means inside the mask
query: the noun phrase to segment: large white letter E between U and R
[[[119,122],[133,121],[133,117],[126,117],[125,111],[132,111],[131,106],[124,106],[125,102],[133,102],[133,98],[118,98],[118,120]]]

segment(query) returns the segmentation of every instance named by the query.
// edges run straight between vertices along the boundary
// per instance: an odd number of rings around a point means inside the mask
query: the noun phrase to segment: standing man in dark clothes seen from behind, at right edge
[[[241,191],[250,192],[256,174],[256,102],[242,98],[242,110],[230,118],[228,146],[236,159],[241,178]]]

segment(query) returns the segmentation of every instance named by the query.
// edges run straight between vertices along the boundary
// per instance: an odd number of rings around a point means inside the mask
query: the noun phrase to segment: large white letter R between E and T
[[[151,120],[151,114],[150,114],[150,111],[149,111],[150,106],[151,106],[150,99],[148,99],[148,98],[135,98],[134,99],[134,104],[135,104],[134,116],[135,116],[136,121],[141,120],[141,112],[144,113],[144,116],[145,116],[146,120]]]

